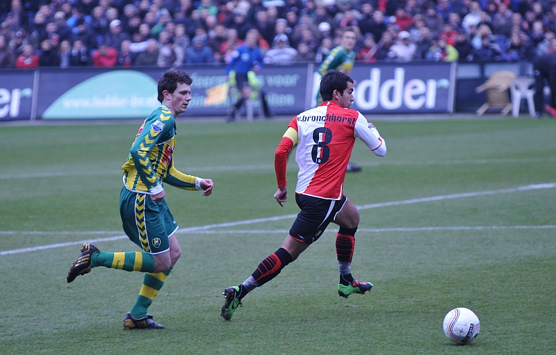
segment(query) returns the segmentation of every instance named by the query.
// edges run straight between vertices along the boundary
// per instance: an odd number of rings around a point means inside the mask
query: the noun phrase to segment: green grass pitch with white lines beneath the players
[[[368,115],[370,121],[372,116]],[[281,208],[274,151],[286,120],[179,120],[176,167],[213,196],[167,187],[182,258],[149,311],[161,331],[123,331],[142,274],[97,268],[65,282],[79,243],[138,250],[118,214],[120,167],[140,122],[0,126],[0,354],[554,354],[556,121],[375,121],[388,153],[357,141],[345,194],[360,207],[352,272],[375,285],[338,297],[337,226],[220,317],[297,213]],[[463,306],[478,338],[453,345]]]

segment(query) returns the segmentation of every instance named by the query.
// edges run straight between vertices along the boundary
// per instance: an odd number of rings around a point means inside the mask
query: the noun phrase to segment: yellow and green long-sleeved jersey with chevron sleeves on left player
[[[175,142],[176,120],[162,105],[143,122],[122,166],[126,188],[158,193],[165,182],[184,190],[199,190],[200,178],[174,168],[172,154]]]

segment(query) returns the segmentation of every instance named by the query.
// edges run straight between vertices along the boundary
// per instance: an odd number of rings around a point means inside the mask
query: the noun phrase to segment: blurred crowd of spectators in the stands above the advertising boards
[[[225,65],[253,28],[264,63],[320,63],[348,26],[363,63],[556,51],[551,0],[11,0],[0,67]]]

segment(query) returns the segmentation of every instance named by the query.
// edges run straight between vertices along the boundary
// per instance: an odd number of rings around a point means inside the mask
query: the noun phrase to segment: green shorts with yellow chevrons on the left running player
[[[122,187],[120,217],[129,240],[149,254],[170,249],[168,238],[178,229],[165,200],[155,202],[151,195]]]

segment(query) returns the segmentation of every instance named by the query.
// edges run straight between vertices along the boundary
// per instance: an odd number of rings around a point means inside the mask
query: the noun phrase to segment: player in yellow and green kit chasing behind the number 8
[[[124,318],[124,329],[162,329],[147,314],[166,277],[181,255],[175,233],[177,223],[164,197],[163,183],[183,190],[213,192],[213,181],[183,174],[174,167],[176,117],[191,101],[193,79],[179,69],[170,69],[158,80],[156,108],[140,127],[122,166],[124,186],[120,194],[120,216],[124,231],[141,251],[106,252],[83,243],[79,258],[67,272],[67,282],[91,271],[92,267],[145,272],[136,303]]]

